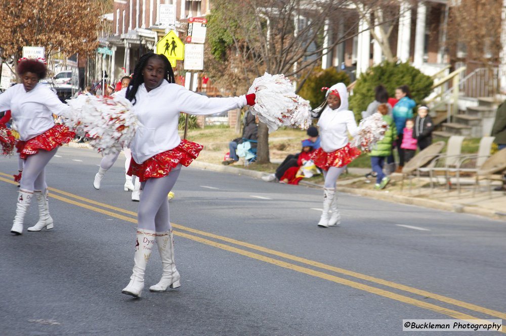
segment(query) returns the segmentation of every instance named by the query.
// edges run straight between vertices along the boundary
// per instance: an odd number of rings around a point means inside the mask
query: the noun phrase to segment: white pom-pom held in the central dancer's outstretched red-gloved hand
[[[267,72],[253,81],[248,93],[255,93],[251,112],[269,128],[269,133],[281,126],[306,129],[311,125],[309,102],[293,90],[290,80],[282,74]]]

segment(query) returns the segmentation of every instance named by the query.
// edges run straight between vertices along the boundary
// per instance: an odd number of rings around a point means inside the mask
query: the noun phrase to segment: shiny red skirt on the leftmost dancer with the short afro
[[[69,143],[75,136],[67,126],[54,125],[42,134],[32,137],[29,140],[16,142],[17,152],[21,159],[29,155],[37,154],[38,150],[52,151],[64,143]]]

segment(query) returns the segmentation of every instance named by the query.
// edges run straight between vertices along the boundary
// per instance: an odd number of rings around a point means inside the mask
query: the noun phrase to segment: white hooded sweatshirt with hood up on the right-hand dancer
[[[332,110],[326,107],[323,110],[318,127],[320,128],[321,148],[330,153],[339,150],[349,142],[348,132],[351,136],[357,135],[358,127],[355,115],[348,110],[348,90],[344,83],[337,83],[329,91],[337,90],[341,99],[339,108]]]

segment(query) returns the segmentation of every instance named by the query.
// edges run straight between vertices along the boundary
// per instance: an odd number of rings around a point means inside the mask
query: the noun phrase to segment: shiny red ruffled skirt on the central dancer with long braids
[[[188,167],[198,157],[202,148],[203,146],[196,142],[181,140],[178,147],[170,151],[158,153],[142,164],[138,164],[132,158],[126,174],[138,176],[141,182],[151,177],[159,178],[167,176],[178,164]]]

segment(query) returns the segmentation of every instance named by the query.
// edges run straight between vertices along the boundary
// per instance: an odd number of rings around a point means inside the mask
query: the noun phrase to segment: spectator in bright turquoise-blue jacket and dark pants
[[[399,166],[396,172],[400,172],[404,166],[404,150],[401,148],[402,132],[404,127],[406,127],[406,119],[413,118],[413,108],[416,106],[416,103],[411,99],[411,93],[407,85],[402,85],[395,89],[395,98],[399,101],[395,104],[392,115],[395,127],[397,128],[396,147],[399,154]]]

